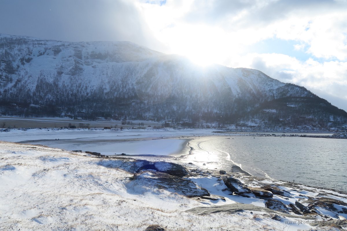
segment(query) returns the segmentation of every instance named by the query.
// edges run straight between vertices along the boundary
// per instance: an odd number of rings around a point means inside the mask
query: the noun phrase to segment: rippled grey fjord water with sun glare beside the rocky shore
[[[347,191],[345,139],[211,136],[194,142],[192,156],[204,156],[217,168],[236,164],[254,176]]]

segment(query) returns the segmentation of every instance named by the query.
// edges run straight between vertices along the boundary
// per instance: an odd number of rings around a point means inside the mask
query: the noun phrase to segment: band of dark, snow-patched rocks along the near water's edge
[[[219,170],[204,170],[189,164],[183,166],[183,164],[172,162],[151,162],[149,160],[122,157],[103,159],[100,161],[100,165],[136,172],[134,179],[129,183],[129,188],[135,186],[143,188],[143,190],[146,190],[146,188],[157,188],[187,197],[199,197],[210,201],[225,201],[225,197],[231,199],[232,194],[237,194],[239,196],[251,197],[252,199],[265,200],[266,212],[278,211],[281,214],[284,213],[291,216],[305,215],[305,218],[307,216],[313,217],[315,214],[315,216],[319,215],[324,219],[342,219],[341,217],[345,217],[345,214],[347,214],[347,203],[339,199],[329,198],[327,197],[328,194],[316,195],[315,191],[310,192],[313,189],[302,189],[289,182],[265,184],[262,182],[263,179],[244,174],[243,172],[226,171],[225,174],[221,174]],[[195,179],[206,180],[211,179],[211,177],[212,179],[217,178],[217,184],[214,183],[215,186],[223,187],[224,185],[225,189],[228,189],[229,192],[231,191],[232,194],[224,192],[222,195],[210,195],[208,190],[203,188],[204,184],[201,184],[203,181],[195,181]],[[204,182],[206,183],[206,181]],[[132,186],[130,187],[130,185]],[[297,197],[298,190],[300,192],[305,191],[299,198]],[[276,198],[272,199],[274,195],[276,195]],[[291,202],[289,204],[287,203],[288,199]],[[238,205],[237,209],[236,207],[221,207],[220,211],[236,211],[241,207],[247,210],[247,206],[241,204]],[[208,211],[207,213],[215,212],[216,209],[205,208]],[[219,208],[217,210],[219,211]],[[262,211],[265,210],[262,208]]]

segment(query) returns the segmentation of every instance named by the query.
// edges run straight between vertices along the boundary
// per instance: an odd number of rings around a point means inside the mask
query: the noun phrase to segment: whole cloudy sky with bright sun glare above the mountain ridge
[[[0,0],[0,33],[257,69],[347,111],[347,0]]]

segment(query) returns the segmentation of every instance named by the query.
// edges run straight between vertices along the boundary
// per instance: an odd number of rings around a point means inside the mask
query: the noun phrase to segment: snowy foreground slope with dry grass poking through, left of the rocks
[[[0,142],[2,229],[144,230],[150,224],[166,230],[297,228],[262,212],[187,213],[189,208],[211,206],[213,201],[189,199],[132,181],[133,173],[105,167],[103,160],[44,146]],[[300,228],[311,227],[301,224]]]

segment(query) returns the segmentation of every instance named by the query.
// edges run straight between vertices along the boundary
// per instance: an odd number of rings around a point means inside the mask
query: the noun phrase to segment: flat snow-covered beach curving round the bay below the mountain
[[[271,134],[271,133],[270,133]],[[270,135],[268,134],[268,135]],[[282,135],[282,133],[279,133]],[[295,133],[294,133],[295,134]],[[300,134],[300,133],[296,133]],[[310,133],[303,133],[309,135]],[[101,152],[105,155],[186,154],[187,141],[211,135],[255,135],[215,129],[60,129],[11,128],[0,129],[0,141],[47,145],[64,150]],[[259,134],[261,135],[261,134]],[[329,135],[321,133],[319,135]],[[287,133],[289,136],[289,133]]]

